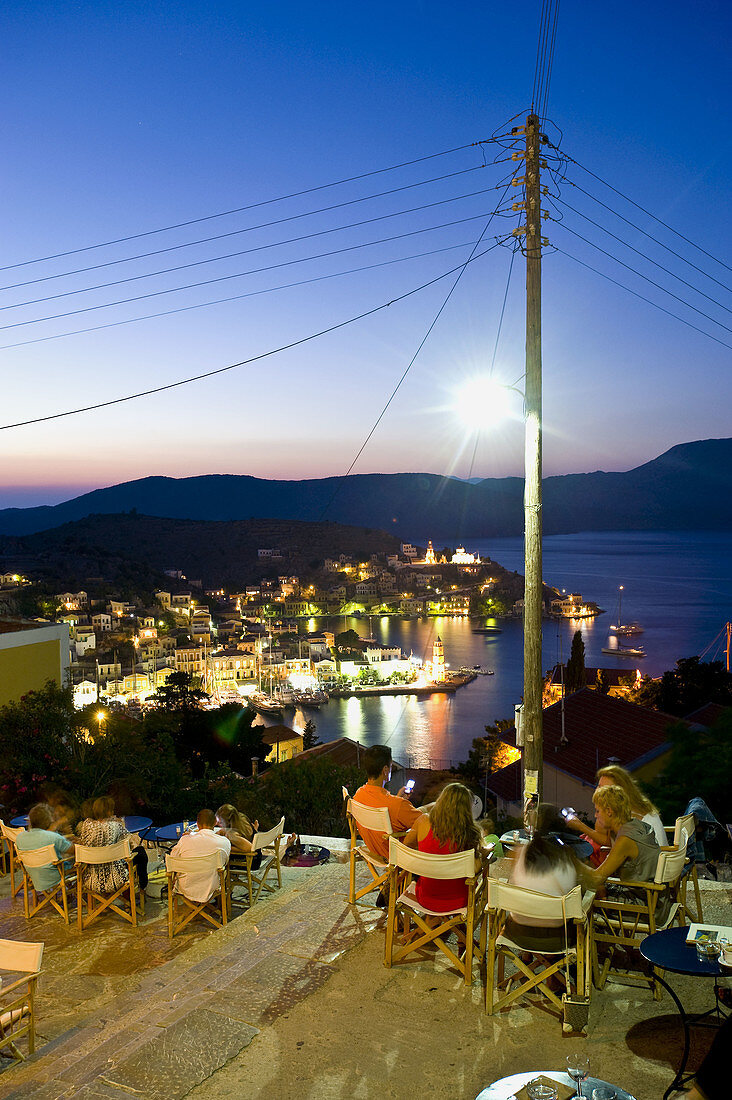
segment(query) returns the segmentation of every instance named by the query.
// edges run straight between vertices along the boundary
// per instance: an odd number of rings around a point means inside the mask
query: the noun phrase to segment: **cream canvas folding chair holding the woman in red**
[[[473,958],[482,961],[485,950],[485,882],[487,862],[476,870],[473,851],[456,851],[437,856],[407,848],[394,836],[389,838],[389,914],[384,966],[392,967],[407,955],[423,953],[428,944],[446,956],[462,975],[466,986],[472,983]],[[414,875],[431,879],[465,879],[468,901],[465,909],[439,913],[425,909],[416,899]],[[415,924],[415,928],[412,924]],[[476,943],[476,931],[479,939]],[[456,955],[447,943],[451,932],[462,945]]]

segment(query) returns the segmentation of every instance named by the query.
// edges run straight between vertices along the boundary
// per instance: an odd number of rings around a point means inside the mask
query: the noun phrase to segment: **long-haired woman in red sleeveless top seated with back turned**
[[[462,783],[448,783],[428,814],[415,823],[404,843],[419,851],[449,856],[454,851],[478,851],[481,832],[472,817],[470,791]],[[416,882],[417,901],[436,913],[451,913],[468,904],[465,879],[428,879]]]

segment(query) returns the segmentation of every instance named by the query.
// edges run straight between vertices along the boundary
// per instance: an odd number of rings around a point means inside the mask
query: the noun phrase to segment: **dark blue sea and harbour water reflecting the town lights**
[[[426,546],[427,538],[417,539]],[[640,668],[660,675],[679,658],[702,656],[724,659],[725,624],[732,618],[732,556],[730,536],[689,532],[590,532],[554,535],[544,539],[543,573],[547,584],[581,593],[583,600],[604,608],[581,622],[544,624],[544,668],[566,661],[573,632],[584,640],[590,667]],[[467,547],[490,557],[509,570],[523,573],[523,538],[492,539]],[[642,644],[643,659],[618,658],[601,652],[609,627],[616,622],[619,587],[623,585],[623,622],[637,620],[644,634],[626,644]],[[445,768],[465,760],[472,740],[487,725],[513,718],[521,702],[523,681],[523,627],[520,619],[495,620],[500,634],[477,635],[467,618],[394,617],[318,619],[319,629],[352,628],[363,637],[401,646],[431,658],[439,636],[450,668],[481,666],[493,675],[479,675],[452,695],[434,694],[379,698],[330,700],[317,711],[286,712],[295,727],[312,719],[321,741],[350,737],[363,746],[390,745],[394,758],[408,767]]]

